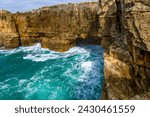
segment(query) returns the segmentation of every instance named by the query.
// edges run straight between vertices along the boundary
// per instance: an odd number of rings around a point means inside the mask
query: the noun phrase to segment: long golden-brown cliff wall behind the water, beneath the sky
[[[87,43],[97,43],[97,8],[93,2],[26,13],[0,11],[0,46],[15,48],[40,42],[44,48],[66,51],[86,39]]]

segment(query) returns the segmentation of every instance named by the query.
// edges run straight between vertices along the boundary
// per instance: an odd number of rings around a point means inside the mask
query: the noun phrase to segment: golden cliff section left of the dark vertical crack
[[[0,47],[16,48],[19,46],[19,34],[15,19],[8,11],[0,11]]]

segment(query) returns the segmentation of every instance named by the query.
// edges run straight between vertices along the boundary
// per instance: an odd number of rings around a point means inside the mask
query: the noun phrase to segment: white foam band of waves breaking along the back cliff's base
[[[67,58],[67,57],[74,56],[75,54],[86,54],[86,56],[90,55],[89,51],[87,51],[82,47],[73,47],[69,49],[67,52],[61,53],[61,52],[55,52],[55,51],[41,48],[40,43],[35,44],[34,46],[19,47],[12,50],[0,50],[0,53],[4,54],[5,56],[9,56],[19,52],[26,53],[23,59],[32,60],[35,62],[40,62],[40,61],[44,62],[52,59]]]

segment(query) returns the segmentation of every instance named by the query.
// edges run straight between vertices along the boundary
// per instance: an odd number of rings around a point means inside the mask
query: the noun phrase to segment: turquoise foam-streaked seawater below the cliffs
[[[0,50],[1,100],[96,100],[103,85],[103,49],[60,53],[40,44]]]

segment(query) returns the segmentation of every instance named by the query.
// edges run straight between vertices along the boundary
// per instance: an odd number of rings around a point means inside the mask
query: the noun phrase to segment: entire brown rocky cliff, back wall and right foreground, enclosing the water
[[[105,48],[102,99],[150,99],[149,0],[99,0],[43,7],[31,12],[0,11],[0,47],[41,43],[66,51],[78,44]]]

